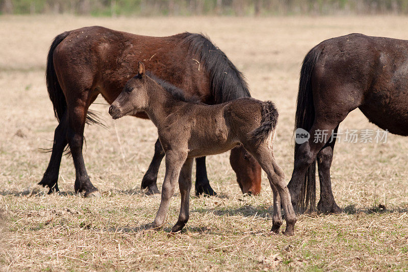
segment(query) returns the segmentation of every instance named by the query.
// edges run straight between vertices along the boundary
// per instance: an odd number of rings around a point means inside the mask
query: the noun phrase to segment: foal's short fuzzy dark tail
[[[250,132],[250,137],[256,144],[262,143],[275,130],[279,114],[271,101],[262,102],[261,126]]]

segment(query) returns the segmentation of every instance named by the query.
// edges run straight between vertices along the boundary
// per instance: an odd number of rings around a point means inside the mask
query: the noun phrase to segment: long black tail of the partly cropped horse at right
[[[295,115],[295,130],[302,128],[310,131],[315,121],[315,106],[313,103],[313,90],[311,77],[313,68],[322,52],[320,47],[314,47],[304,57],[300,70],[299,93],[297,94],[297,105]],[[299,150],[299,144],[295,143],[295,160]],[[310,207],[314,209],[316,205],[316,160],[310,165],[302,184],[302,189],[298,199],[300,212],[304,212]]]

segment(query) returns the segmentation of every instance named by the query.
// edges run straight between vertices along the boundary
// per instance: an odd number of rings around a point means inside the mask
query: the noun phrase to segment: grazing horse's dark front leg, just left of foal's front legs
[[[159,189],[157,188],[157,173],[159,172],[160,163],[164,158],[164,150],[162,148],[162,144],[160,140],[157,139],[155,143],[155,155],[150,162],[149,168],[144,174],[141,184],[141,189],[148,189],[147,194],[155,194],[160,193]]]

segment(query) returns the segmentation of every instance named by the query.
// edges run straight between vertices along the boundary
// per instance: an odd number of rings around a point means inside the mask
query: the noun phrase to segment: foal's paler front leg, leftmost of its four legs
[[[169,210],[170,199],[174,193],[175,183],[179,180],[180,170],[186,159],[187,152],[175,152],[170,150],[166,153],[166,175],[162,186],[162,200],[155,221],[153,221],[152,224],[153,228],[161,227],[164,224]]]

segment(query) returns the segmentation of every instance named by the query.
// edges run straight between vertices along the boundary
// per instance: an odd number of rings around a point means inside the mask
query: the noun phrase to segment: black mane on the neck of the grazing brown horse
[[[209,73],[214,104],[251,96],[242,73],[208,37],[187,32],[185,35],[189,53],[197,56],[201,67]]]

